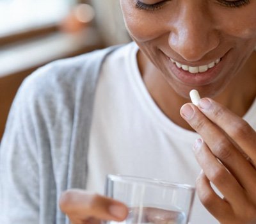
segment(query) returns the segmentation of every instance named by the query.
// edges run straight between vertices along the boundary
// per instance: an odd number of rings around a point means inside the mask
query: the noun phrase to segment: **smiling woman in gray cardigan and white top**
[[[196,200],[191,223],[255,223],[256,1],[120,3],[136,44],[22,85],[1,145],[1,223],[65,223],[60,209],[74,224],[124,220],[100,196],[107,173],[194,184],[201,169],[209,212]],[[210,98],[186,103],[193,88]]]

